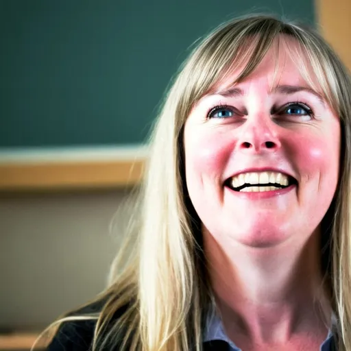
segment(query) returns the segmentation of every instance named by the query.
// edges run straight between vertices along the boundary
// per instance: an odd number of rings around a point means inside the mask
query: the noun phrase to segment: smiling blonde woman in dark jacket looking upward
[[[134,256],[48,350],[351,350],[350,95],[311,29],[207,36],[152,135]]]

